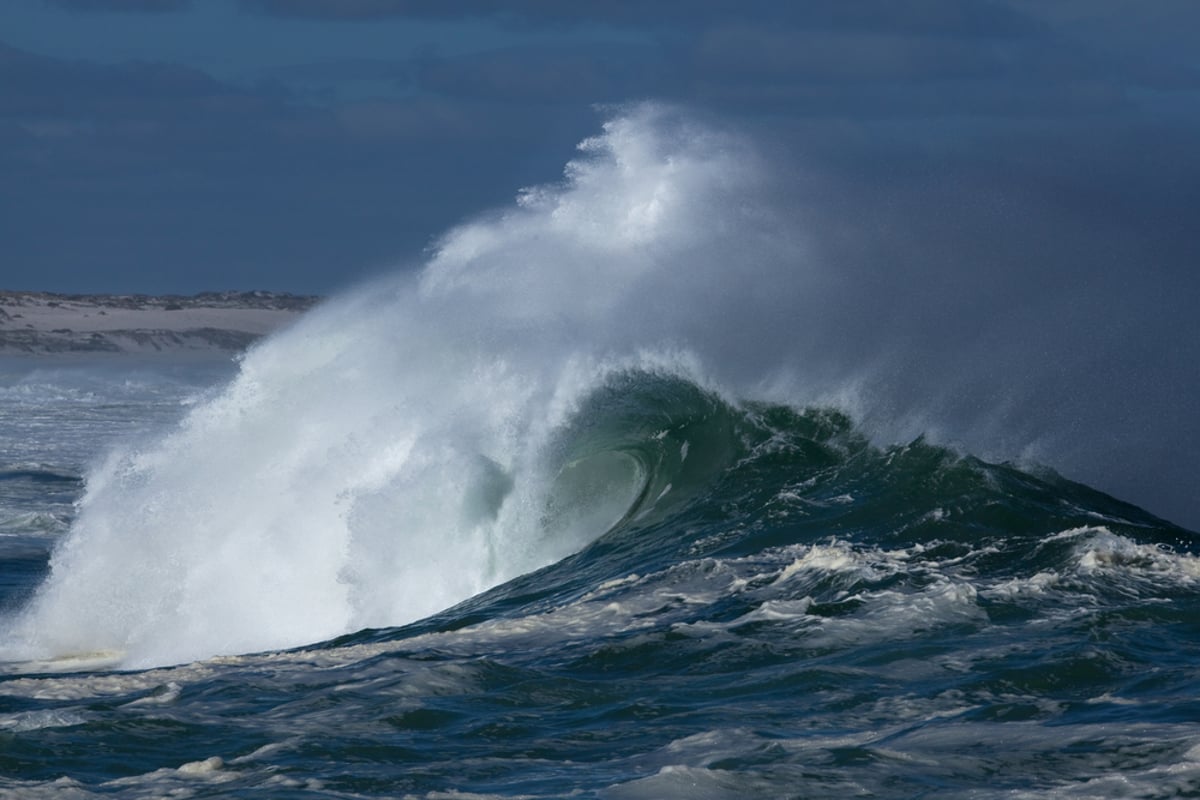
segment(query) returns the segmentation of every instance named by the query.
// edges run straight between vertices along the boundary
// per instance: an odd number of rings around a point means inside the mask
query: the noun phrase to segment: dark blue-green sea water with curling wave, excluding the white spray
[[[68,529],[95,537],[109,518],[85,476],[152,483],[138,470],[161,447],[115,467],[103,453],[178,429],[187,398],[230,374],[22,363],[0,385],[10,620]],[[1193,534],[1050,471],[878,446],[840,411],[730,401],[664,369],[608,372],[542,453],[540,535],[581,543],[448,609],[248,655],[217,637],[205,646],[222,655],[174,666],[120,648],[8,661],[0,795],[1200,795]],[[498,519],[521,497],[500,467],[472,495]],[[179,539],[179,559],[232,576],[244,613],[216,630],[270,604],[277,565],[235,585],[229,545],[210,535],[205,560]],[[428,591],[466,569],[408,549]],[[155,558],[170,581],[206,575],[172,573],[170,548]],[[116,575],[134,560],[106,564],[114,593],[137,594]],[[124,640],[151,619],[192,625],[185,597],[114,606],[140,615]],[[42,613],[48,627],[86,616]],[[28,633],[7,631],[10,645]]]

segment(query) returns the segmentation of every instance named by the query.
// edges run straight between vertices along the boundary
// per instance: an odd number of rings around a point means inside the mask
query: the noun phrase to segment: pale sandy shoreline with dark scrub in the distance
[[[108,295],[0,290],[0,355],[236,353],[320,300],[280,291]]]

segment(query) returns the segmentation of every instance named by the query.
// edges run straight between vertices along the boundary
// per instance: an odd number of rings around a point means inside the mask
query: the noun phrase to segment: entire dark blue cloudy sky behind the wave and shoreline
[[[1200,527],[1198,30],[1195,0],[7,0],[0,288],[335,293],[656,101],[803,210],[814,369],[950,387],[949,438],[1051,432]]]

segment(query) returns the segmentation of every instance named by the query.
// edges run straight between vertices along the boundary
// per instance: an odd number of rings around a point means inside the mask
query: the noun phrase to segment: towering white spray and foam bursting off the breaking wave
[[[556,427],[616,369],[703,381],[685,350],[743,327],[736,302],[710,313],[730,264],[779,263],[746,236],[794,248],[731,137],[643,107],[582,150],[562,184],[326,303],[175,429],[115,450],[8,655],[146,666],[397,625],[604,533],[545,530]]]

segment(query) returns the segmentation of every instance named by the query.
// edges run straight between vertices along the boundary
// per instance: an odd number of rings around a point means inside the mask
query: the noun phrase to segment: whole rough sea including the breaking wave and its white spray
[[[235,362],[0,362],[0,796],[1200,796],[1196,535],[815,398],[656,131]]]

